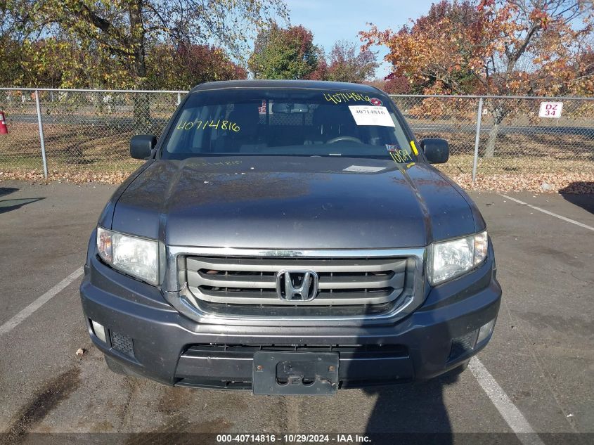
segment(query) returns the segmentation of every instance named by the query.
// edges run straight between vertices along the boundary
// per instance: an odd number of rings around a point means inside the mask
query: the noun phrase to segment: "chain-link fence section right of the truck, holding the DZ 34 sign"
[[[594,173],[594,98],[392,96],[415,136],[445,138],[448,174]],[[560,117],[544,103],[562,103]],[[548,108],[551,108],[549,105]],[[476,166],[475,166],[476,162]],[[473,168],[474,167],[474,168]],[[474,176],[474,175],[473,175]]]

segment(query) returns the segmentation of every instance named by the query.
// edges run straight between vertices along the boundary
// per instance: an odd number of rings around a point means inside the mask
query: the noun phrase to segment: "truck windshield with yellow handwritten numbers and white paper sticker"
[[[164,159],[309,155],[406,163],[416,162],[418,154],[387,96],[318,89],[192,93],[163,147]]]

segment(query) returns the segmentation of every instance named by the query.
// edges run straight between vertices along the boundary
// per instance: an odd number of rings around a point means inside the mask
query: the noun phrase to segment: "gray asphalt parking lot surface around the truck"
[[[114,189],[0,182],[0,326],[82,266]],[[472,198],[487,221],[504,292],[493,339],[478,356],[486,376],[474,363],[456,377],[316,398],[115,375],[86,333],[77,278],[0,333],[0,443],[58,437],[47,433],[72,434],[60,436],[72,443],[83,433],[87,442],[179,443],[177,432],[453,432],[458,439],[444,434],[448,443],[496,434],[508,443],[593,443],[594,195]],[[83,356],[75,355],[79,348]],[[524,434],[530,431],[536,434]]]

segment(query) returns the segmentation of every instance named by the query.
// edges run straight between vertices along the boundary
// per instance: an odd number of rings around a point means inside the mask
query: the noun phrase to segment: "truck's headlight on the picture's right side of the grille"
[[[489,245],[486,231],[457,240],[434,243],[429,249],[430,283],[436,285],[470,271],[486,258]]]

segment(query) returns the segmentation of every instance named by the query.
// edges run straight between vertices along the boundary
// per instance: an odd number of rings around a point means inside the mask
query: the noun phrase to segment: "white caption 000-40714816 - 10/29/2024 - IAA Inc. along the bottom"
[[[217,434],[217,444],[365,444],[364,434]]]

